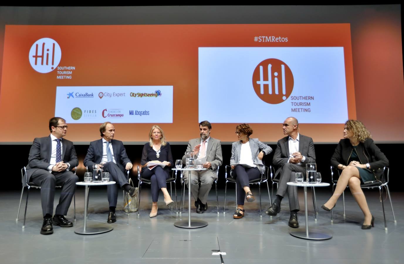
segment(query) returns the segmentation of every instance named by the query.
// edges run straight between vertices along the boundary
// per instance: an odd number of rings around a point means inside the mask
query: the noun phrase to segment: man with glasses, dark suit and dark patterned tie
[[[78,177],[71,169],[78,165],[76,150],[72,141],[62,139],[66,136],[67,125],[65,119],[53,117],[49,120],[50,135],[34,138],[29,151],[27,165],[27,182],[41,186],[41,203],[44,222],[41,234],[53,233],[53,225],[71,227],[73,223],[65,218],[69,210]],[[64,162],[67,161],[67,162]],[[53,214],[55,186],[63,186],[59,204]]]

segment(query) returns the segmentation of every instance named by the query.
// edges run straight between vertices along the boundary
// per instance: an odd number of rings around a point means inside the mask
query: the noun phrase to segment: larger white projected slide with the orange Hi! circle
[[[199,118],[212,123],[343,124],[343,47],[199,48]]]

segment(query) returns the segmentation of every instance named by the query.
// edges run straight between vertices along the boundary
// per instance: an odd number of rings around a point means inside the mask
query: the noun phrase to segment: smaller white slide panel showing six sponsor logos
[[[67,123],[173,123],[173,86],[58,86]]]

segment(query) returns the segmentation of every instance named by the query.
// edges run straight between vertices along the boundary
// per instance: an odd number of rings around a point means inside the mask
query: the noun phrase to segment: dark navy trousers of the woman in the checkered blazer
[[[246,198],[246,192],[244,191],[244,186],[250,187],[248,183],[250,180],[260,178],[260,172],[257,167],[255,168],[244,168],[241,165],[236,165],[234,167],[231,176],[236,178],[236,188],[237,188],[237,204],[244,205],[244,199]]]

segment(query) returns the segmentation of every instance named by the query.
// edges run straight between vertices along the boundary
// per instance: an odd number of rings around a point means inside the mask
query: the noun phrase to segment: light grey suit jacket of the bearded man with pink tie
[[[201,138],[194,138],[189,140],[187,151],[192,151],[196,145],[201,143]],[[223,163],[222,146],[220,140],[210,137],[208,145],[206,146],[206,161],[212,164],[210,170],[217,171],[217,167]],[[185,164],[185,155],[182,157],[182,163]]]

